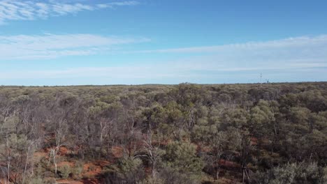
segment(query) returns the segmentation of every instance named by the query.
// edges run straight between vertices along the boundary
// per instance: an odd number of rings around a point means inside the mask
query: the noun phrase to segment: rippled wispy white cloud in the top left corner
[[[117,6],[136,6],[138,1],[85,3],[78,1],[0,0],[0,24],[10,20],[38,20]]]

